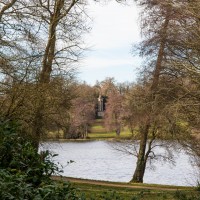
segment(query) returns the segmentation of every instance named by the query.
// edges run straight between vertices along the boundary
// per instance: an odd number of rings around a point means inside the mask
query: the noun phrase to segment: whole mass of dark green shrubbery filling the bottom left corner
[[[81,200],[70,183],[51,179],[60,172],[54,156],[38,153],[17,123],[0,121],[0,199]]]

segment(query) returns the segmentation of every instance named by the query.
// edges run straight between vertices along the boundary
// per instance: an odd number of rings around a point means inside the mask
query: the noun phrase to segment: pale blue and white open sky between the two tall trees
[[[136,6],[90,1],[88,15],[92,30],[84,40],[90,48],[80,63],[79,78],[90,85],[106,77],[117,82],[135,81],[141,63],[131,54],[132,45],[140,41]]]

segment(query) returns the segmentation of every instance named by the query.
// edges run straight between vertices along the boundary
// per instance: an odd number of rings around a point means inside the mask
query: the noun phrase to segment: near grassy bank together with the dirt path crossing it
[[[199,200],[193,187],[155,184],[129,184],[75,178],[69,180],[88,200]]]

